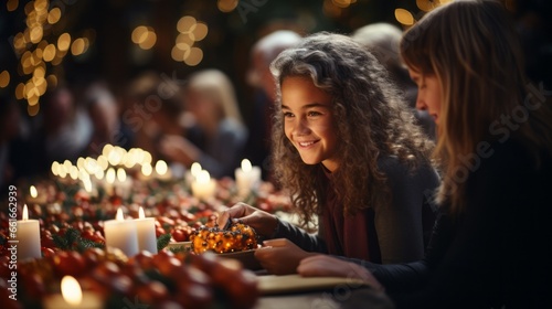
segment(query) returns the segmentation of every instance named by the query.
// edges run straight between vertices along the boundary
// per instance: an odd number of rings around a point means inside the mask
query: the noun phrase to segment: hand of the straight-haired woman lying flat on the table
[[[317,254],[302,259],[297,273],[304,277],[346,277],[361,279],[372,288],[384,291],[383,286],[367,268],[328,255]]]

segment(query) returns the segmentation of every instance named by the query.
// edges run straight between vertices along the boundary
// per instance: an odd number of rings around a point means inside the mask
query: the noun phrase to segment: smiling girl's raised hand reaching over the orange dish
[[[278,225],[278,219],[275,215],[241,202],[222,212],[216,223],[222,227],[229,220],[250,225],[264,237],[270,237]]]

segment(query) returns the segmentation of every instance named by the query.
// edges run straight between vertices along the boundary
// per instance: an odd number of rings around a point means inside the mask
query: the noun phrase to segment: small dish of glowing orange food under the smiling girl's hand
[[[203,226],[190,235],[191,251],[195,254],[214,252],[220,257],[237,259],[251,270],[263,268],[255,258],[257,239],[255,230],[243,223],[231,224],[227,228]]]

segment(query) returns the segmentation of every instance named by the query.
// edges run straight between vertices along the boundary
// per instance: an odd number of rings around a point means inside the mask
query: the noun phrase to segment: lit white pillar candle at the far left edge
[[[26,204],[23,206],[21,220],[18,220],[17,241],[18,259],[42,257],[40,251],[40,224],[38,220],[29,220]]]

